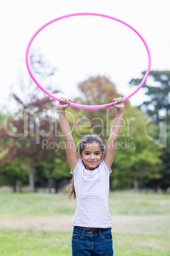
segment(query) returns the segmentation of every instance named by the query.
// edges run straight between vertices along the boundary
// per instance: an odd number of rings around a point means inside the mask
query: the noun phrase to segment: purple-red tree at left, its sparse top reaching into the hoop
[[[30,66],[33,67],[37,75],[42,75],[43,80],[54,75],[55,70],[49,69],[41,55],[30,55]],[[15,99],[18,111],[6,114],[4,127],[1,127],[1,157],[0,165],[5,169],[11,168],[11,163],[15,159],[22,159],[29,164],[29,183],[30,191],[35,190],[34,173],[37,162],[44,162],[49,173],[49,188],[51,184],[51,172],[55,169],[57,153],[54,148],[49,147],[50,143],[60,141],[56,134],[58,122],[53,110],[56,110],[56,101],[44,96],[38,87],[34,87],[29,79],[20,78],[20,96],[12,94]],[[25,86],[27,84],[27,86]],[[31,85],[31,86],[30,86]],[[37,93],[39,90],[39,93]],[[48,86],[48,90],[52,90]],[[58,93],[53,90],[51,93]],[[44,143],[44,139],[46,140]],[[65,160],[65,154],[60,154],[61,159]],[[48,163],[48,164],[46,164]],[[50,163],[50,164],[49,164]],[[21,165],[21,161],[18,162]],[[15,173],[11,168],[11,172]],[[6,176],[8,175],[7,172]]]

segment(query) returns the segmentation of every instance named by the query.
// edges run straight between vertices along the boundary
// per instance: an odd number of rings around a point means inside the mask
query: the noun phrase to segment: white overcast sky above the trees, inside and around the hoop
[[[1,3],[1,103],[8,102],[10,86],[16,91],[18,73],[24,71],[25,50],[31,36],[43,24],[69,13],[95,12],[110,15],[132,25],[145,38],[152,57],[151,69],[170,68],[169,0],[8,0]],[[125,25],[102,17],[72,17],[55,22],[41,31],[31,48],[38,48],[58,70],[56,89],[63,96],[77,96],[77,83],[89,76],[106,75],[117,91],[127,96],[131,78],[147,69],[147,50],[141,39]],[[22,67],[22,69],[20,69]],[[16,85],[16,87],[15,87]],[[43,86],[43,84],[42,84]],[[133,97],[144,99],[142,89]],[[100,102],[99,102],[100,104]]]

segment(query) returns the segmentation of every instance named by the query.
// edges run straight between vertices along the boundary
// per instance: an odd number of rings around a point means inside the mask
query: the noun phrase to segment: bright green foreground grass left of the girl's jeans
[[[2,229],[0,255],[71,255],[71,232]]]

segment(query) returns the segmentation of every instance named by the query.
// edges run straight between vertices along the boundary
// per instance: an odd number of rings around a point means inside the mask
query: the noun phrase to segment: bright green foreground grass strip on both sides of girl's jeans
[[[4,255],[71,255],[71,232],[6,230],[0,232],[0,254]],[[114,234],[115,256],[169,256],[169,238]]]

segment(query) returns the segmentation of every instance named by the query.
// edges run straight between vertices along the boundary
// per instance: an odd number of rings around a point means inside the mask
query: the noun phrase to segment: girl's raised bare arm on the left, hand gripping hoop
[[[70,125],[65,115],[65,109],[68,108],[69,106],[70,106],[69,99],[61,98],[60,103],[58,103],[58,115],[60,118],[60,127],[62,129],[62,134],[65,139],[67,158],[69,160],[69,164],[72,171],[74,171],[78,161],[78,156],[75,148],[74,139],[72,138],[72,133],[70,131]]]

